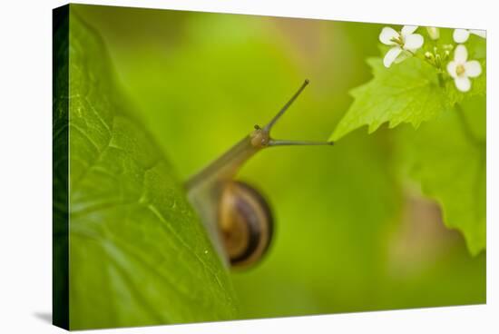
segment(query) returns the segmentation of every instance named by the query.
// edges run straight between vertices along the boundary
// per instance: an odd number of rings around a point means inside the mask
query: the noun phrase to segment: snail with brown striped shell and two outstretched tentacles
[[[231,267],[249,267],[257,263],[269,248],[274,224],[265,197],[248,183],[235,180],[240,167],[267,147],[333,144],[275,140],[270,136],[274,124],[307,84],[308,80],[305,80],[267,125],[255,125],[249,135],[185,183],[188,198],[208,230],[216,251]]]

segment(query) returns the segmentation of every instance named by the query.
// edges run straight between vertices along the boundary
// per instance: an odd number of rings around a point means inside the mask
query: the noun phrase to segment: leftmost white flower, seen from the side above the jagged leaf
[[[379,41],[393,46],[386,53],[385,59],[383,59],[383,64],[386,67],[390,67],[393,62],[402,62],[409,54],[414,54],[423,45],[425,41],[423,36],[413,34],[416,29],[416,25],[404,25],[400,32],[387,26],[383,28],[381,34],[379,34]]]

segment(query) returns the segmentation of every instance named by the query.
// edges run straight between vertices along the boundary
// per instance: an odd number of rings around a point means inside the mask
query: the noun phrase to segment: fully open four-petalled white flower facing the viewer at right
[[[459,44],[455,48],[454,60],[447,64],[447,72],[454,78],[455,87],[461,92],[467,92],[471,88],[469,78],[475,78],[482,73],[482,66],[476,60],[468,59],[468,51],[465,45]]]

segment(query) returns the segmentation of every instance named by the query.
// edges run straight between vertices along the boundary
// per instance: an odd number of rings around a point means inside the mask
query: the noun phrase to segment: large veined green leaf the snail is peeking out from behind
[[[70,328],[233,319],[227,270],[73,8],[69,47]]]

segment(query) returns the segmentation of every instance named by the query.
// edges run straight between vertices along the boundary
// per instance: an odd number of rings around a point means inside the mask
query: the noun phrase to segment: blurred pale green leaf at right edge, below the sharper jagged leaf
[[[445,225],[461,231],[469,251],[485,248],[485,99],[475,96],[397,142],[410,174],[441,205]]]

